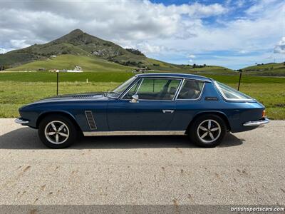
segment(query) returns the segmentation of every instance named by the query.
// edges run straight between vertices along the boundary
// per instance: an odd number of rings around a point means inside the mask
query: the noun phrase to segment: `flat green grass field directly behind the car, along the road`
[[[61,73],[59,93],[108,91],[133,73]],[[237,88],[239,76],[207,75]],[[88,83],[86,83],[88,78]],[[240,91],[266,106],[267,116],[285,119],[285,78],[244,76]],[[56,73],[0,73],[0,118],[17,117],[18,108],[56,95]]]

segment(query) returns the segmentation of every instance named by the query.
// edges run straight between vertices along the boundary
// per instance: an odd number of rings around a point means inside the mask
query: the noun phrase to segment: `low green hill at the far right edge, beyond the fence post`
[[[242,68],[245,74],[257,76],[285,76],[285,62],[261,63],[256,66]]]

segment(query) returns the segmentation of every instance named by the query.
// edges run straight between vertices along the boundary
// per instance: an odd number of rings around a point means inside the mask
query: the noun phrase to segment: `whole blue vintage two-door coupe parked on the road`
[[[187,135],[214,147],[227,132],[269,123],[264,106],[212,78],[178,73],[135,75],[108,93],[56,96],[19,109],[16,123],[38,129],[49,148],[84,136]]]

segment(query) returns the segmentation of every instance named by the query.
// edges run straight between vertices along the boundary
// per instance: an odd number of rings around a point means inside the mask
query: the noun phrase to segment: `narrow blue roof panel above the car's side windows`
[[[199,76],[195,74],[189,73],[140,73],[135,76],[139,77],[171,77],[171,78],[191,78],[197,81],[207,81],[212,82],[211,78],[207,78],[205,76]]]

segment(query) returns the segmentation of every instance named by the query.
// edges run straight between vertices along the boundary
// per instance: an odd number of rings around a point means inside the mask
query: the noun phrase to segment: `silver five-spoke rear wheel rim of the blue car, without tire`
[[[214,120],[205,120],[197,128],[197,136],[203,143],[212,143],[217,141],[221,134],[221,126]]]

